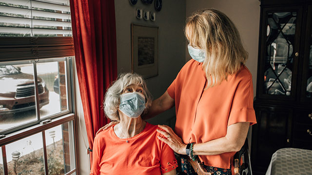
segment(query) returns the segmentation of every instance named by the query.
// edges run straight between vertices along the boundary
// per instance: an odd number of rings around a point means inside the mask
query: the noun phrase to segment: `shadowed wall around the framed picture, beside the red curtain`
[[[147,5],[138,0],[136,5],[131,5],[129,0],[115,0],[118,73],[131,71],[131,23],[159,27],[158,76],[147,79],[147,86],[154,99],[166,91],[185,63],[185,0],[162,2],[161,11],[156,12],[154,2]],[[137,19],[137,8],[156,12],[156,21]],[[171,109],[148,122],[173,126],[173,117],[175,110]]]

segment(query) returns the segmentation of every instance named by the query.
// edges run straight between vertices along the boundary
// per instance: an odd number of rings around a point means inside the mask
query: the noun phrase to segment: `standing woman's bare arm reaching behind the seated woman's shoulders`
[[[148,113],[142,116],[143,120],[150,119],[175,106],[175,99],[171,98],[166,91],[162,96],[153,101]]]

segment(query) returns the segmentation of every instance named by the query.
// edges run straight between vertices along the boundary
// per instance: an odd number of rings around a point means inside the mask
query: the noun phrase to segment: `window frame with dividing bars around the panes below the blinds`
[[[1,65],[17,65],[17,64],[29,64],[30,62],[33,64],[33,69],[34,69],[34,82],[35,82],[35,101],[36,101],[36,116],[37,120],[32,121],[29,123],[25,123],[13,128],[9,128],[3,131],[0,131],[0,136],[4,136],[3,138],[0,139],[0,147],[2,151],[2,160],[3,160],[3,171],[4,175],[8,175],[8,169],[7,169],[7,163],[6,162],[6,151],[5,151],[5,145],[15,142],[17,140],[24,139],[26,137],[42,133],[42,141],[43,141],[43,157],[44,157],[44,166],[45,166],[45,174],[48,175],[48,168],[47,168],[47,151],[46,151],[46,145],[45,145],[45,136],[44,132],[47,129],[50,129],[52,127],[58,126],[63,123],[67,122],[72,122],[72,134],[73,134],[73,147],[70,148],[70,156],[75,159],[75,167],[65,175],[71,175],[78,173],[78,145],[77,145],[77,128],[76,128],[76,115],[75,115],[75,89],[74,89],[74,84],[73,84],[73,64],[72,64],[72,59],[74,59],[75,55],[72,55],[71,57],[66,57],[66,58],[45,58],[45,59],[32,59],[32,60],[20,60],[20,61],[2,61],[0,58],[0,66]],[[37,63],[41,63],[40,61],[43,60],[44,62],[54,62],[54,61],[66,61],[66,76],[67,76],[67,100],[68,100],[68,109],[64,111],[60,111],[57,114],[53,114],[48,117],[44,117],[40,119],[40,114],[39,114],[39,94],[38,94],[38,81],[37,81]],[[43,63],[44,63],[43,62]],[[11,63],[11,64],[10,64]],[[44,123],[42,124],[41,122],[46,121],[46,120],[51,120],[51,122]],[[72,152],[74,151],[74,153]],[[0,169],[0,171],[2,171]]]

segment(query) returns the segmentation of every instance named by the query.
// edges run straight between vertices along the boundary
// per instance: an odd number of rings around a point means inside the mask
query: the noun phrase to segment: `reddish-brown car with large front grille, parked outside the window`
[[[49,104],[49,90],[38,77],[39,106]],[[34,76],[19,67],[0,66],[0,114],[36,108]]]

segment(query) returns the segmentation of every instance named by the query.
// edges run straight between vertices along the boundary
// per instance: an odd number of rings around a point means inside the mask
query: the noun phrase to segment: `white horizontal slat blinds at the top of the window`
[[[72,36],[69,0],[0,0],[0,36]]]

